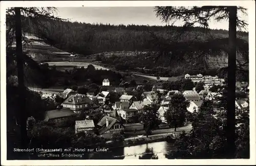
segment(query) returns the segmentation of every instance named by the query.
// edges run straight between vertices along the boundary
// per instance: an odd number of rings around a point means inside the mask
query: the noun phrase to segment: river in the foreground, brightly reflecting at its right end
[[[175,147],[173,143],[162,141],[130,147],[114,148],[108,150],[107,152],[79,152],[76,154],[80,154],[81,156],[76,157],[63,156],[63,153],[73,154],[74,152],[62,151],[58,154],[58,157],[33,155],[31,156],[31,159],[152,159],[153,155],[158,159],[168,159],[167,154],[174,149]]]

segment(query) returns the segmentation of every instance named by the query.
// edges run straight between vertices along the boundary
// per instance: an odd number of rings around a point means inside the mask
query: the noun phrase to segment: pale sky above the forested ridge
[[[110,23],[110,24],[138,24],[138,25],[166,25],[156,17],[154,7],[61,7],[57,8],[57,16],[71,21],[86,23]],[[238,13],[248,21],[248,16]],[[181,21],[175,25],[182,25]],[[211,29],[228,29],[228,22],[209,22]]]

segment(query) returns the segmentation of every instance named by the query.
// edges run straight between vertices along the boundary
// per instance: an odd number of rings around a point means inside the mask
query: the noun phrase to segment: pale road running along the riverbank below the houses
[[[176,133],[180,133],[182,131],[190,131],[192,128],[192,125],[191,124],[187,124],[186,126],[183,126],[183,127],[179,127],[176,129],[176,131],[174,131],[174,128],[167,128],[167,129],[159,129],[159,130],[154,130],[152,131],[152,135],[148,135],[148,137],[152,137],[152,136],[158,136],[158,135],[168,135],[168,134],[176,134]],[[143,136],[137,136],[137,135],[142,135]],[[140,139],[142,137],[146,137],[145,135],[145,131],[137,131],[136,133],[134,132],[125,132],[125,135],[128,137],[126,139],[124,139],[125,141],[126,140],[134,140],[134,139]],[[107,141],[106,143],[111,143],[111,141]]]

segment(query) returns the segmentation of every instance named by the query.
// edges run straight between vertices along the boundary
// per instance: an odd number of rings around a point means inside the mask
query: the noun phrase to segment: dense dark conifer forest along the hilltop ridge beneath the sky
[[[27,22],[29,24],[29,22]],[[183,30],[178,26],[147,26],[147,25],[110,25],[89,24],[57,20],[46,22],[41,31],[28,31],[41,37],[59,49],[79,53],[84,56],[105,51],[145,51],[155,48],[154,36],[172,39],[175,32]],[[181,40],[197,35],[207,38],[205,29],[194,27],[186,30],[190,35],[183,35]],[[210,35],[223,38],[228,35],[226,30],[209,30]],[[240,32],[239,37],[248,40],[248,33]]]

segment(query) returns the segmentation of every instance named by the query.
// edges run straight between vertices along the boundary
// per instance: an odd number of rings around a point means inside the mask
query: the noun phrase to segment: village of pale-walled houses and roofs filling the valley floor
[[[189,103],[186,111],[188,114],[191,114],[198,112],[203,100],[214,100],[221,96],[216,88],[222,86],[224,82],[224,79],[218,78],[218,76],[203,76],[202,74],[185,74],[184,79],[191,80],[195,86],[192,86],[191,90],[183,91],[168,91],[157,89],[153,86],[151,91],[146,92],[141,91],[143,85],[129,89],[130,91],[139,90],[141,92],[140,99],[133,95],[128,95],[124,87],[112,86],[108,78],[102,80],[101,89],[104,91],[102,90],[98,94],[79,94],[72,89],[66,89],[62,93],[42,93],[42,98],[50,98],[55,101],[57,97],[63,100],[56,109],[46,112],[45,121],[55,123],[65,122],[65,120],[70,119],[75,123],[75,126],[72,128],[75,133],[98,134],[107,140],[111,140],[113,133],[119,133],[125,139],[129,139],[129,137],[147,137],[148,135],[144,131],[146,126],[144,126],[143,121],[139,120],[140,117],[138,115],[143,112],[145,106],[157,105],[156,115],[159,125],[152,128],[152,130],[154,130],[155,134],[175,135],[174,126],[167,122],[164,115],[171,107],[170,102],[173,96],[178,94],[184,96],[185,101]],[[198,88],[197,84],[201,84],[201,86]],[[246,82],[242,82],[239,92],[247,94],[248,84]],[[114,95],[117,94],[118,97],[120,96],[118,101],[113,101],[111,96],[113,93],[115,93]],[[236,106],[238,109],[248,107],[247,95],[237,98]],[[220,110],[215,108],[215,112],[218,113]],[[102,118],[95,120],[94,114],[100,114]],[[74,117],[79,117],[80,119],[75,121]],[[182,130],[189,131],[191,125],[189,125],[189,121],[186,119],[180,128],[179,132]],[[177,131],[177,133],[179,132]]]

